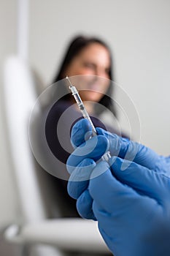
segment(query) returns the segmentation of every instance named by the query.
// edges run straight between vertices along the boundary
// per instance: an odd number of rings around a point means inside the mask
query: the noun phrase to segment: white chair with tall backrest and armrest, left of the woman
[[[4,231],[5,239],[29,249],[36,246],[36,255],[41,256],[65,255],[65,252],[68,255],[73,252],[109,254],[98,232],[97,222],[62,219],[59,211],[58,218],[48,219],[47,198],[42,193],[42,187],[47,184],[45,178],[41,184],[39,182],[40,176],[45,173],[37,174],[39,167],[35,165],[28,141],[28,118],[37,97],[34,76],[28,64],[14,56],[6,62],[4,78],[12,171],[15,173],[20,202],[20,214],[15,223]],[[57,202],[50,203],[57,206]],[[46,249],[44,246],[47,246]]]

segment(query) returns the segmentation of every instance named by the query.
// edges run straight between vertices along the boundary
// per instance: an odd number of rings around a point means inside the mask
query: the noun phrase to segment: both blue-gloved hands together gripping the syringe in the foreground
[[[90,133],[89,130],[85,120],[80,121],[78,129],[75,125],[72,143],[79,147],[68,159],[71,173],[68,191],[77,198],[80,215],[98,220],[101,235],[115,256],[170,255],[170,181],[161,174],[163,157],[110,134],[109,143],[102,135],[97,136],[97,141],[92,138],[85,143],[82,131]],[[111,154],[116,152],[119,157],[112,157],[110,165],[96,164],[108,150],[108,144]],[[134,155],[136,146],[138,150]],[[135,162],[121,159],[125,154],[133,156]]]

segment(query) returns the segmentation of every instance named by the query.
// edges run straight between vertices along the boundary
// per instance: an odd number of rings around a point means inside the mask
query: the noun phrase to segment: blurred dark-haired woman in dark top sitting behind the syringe
[[[77,118],[82,115],[77,105],[74,104],[74,97],[69,92],[66,80],[63,80],[66,76],[69,76],[77,90],[80,91],[80,97],[94,125],[106,129],[105,125],[99,121],[101,113],[107,109],[116,116],[115,105],[109,97],[113,93],[112,56],[106,43],[95,37],[80,36],[72,40],[53,80],[53,83],[61,82],[56,83],[57,100],[50,108],[45,124],[47,144],[58,159],[56,171],[58,169],[64,177],[63,180],[58,180],[63,217],[77,217],[75,201],[68,196],[66,191],[66,180],[69,176],[65,165],[66,159],[73,151],[69,138],[70,129]],[[113,127],[107,127],[107,129],[117,133]],[[56,176],[60,178],[59,174]]]

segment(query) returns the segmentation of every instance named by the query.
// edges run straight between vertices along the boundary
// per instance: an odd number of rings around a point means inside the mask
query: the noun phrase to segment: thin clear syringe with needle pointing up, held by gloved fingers
[[[69,80],[69,77],[66,76],[66,79]],[[78,107],[79,107],[79,109],[80,109],[80,111],[82,113],[82,116],[84,118],[88,119],[88,121],[90,122],[90,125],[91,125],[91,128],[92,128],[92,137],[96,136],[97,135],[96,129],[95,129],[94,125],[93,125],[93,122],[91,121],[91,118],[90,118],[90,116],[88,114],[88,111],[85,109],[85,105],[83,104],[82,99],[80,98],[79,92],[77,91],[75,86],[72,86],[72,83],[71,83],[70,80],[69,80],[69,84],[70,84],[69,89],[72,91],[72,95],[74,96],[74,99],[77,102],[77,105],[78,105]],[[107,151],[101,157],[101,159],[105,160],[105,161],[108,161],[110,157],[111,157],[111,155],[110,155],[109,151]]]

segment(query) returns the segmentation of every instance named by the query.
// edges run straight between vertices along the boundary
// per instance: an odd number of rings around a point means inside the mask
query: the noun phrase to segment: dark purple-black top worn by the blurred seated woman
[[[66,160],[72,153],[74,148],[70,142],[70,132],[72,125],[78,118],[82,118],[82,113],[75,110],[74,103],[68,102],[64,99],[55,102],[50,112],[47,115],[45,123],[45,136],[47,144],[53,155],[59,160],[56,170],[62,170],[64,178],[68,180],[69,174],[66,170]],[[95,127],[106,129],[103,123],[98,118],[91,117]],[[108,129],[108,127],[107,127]],[[114,129],[109,127],[109,132],[115,132]],[[58,174],[59,176],[59,174]],[[60,195],[62,197],[63,217],[77,217],[79,216],[76,209],[76,200],[69,197],[67,193],[67,181],[58,178],[53,178],[54,182],[58,180],[56,186],[60,187]]]

